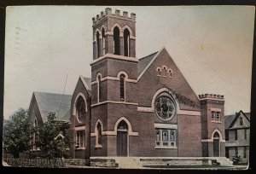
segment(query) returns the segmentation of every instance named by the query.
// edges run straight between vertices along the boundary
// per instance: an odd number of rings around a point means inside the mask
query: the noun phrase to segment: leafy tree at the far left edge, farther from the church
[[[19,153],[31,149],[32,122],[27,110],[20,108],[3,126],[3,145],[7,151],[19,158]]]

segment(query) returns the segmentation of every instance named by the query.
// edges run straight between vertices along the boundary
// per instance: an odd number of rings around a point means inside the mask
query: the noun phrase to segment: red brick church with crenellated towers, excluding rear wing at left
[[[224,157],[224,96],[197,96],[165,48],[138,59],[136,14],[92,20],[91,78],[71,99],[73,158]]]

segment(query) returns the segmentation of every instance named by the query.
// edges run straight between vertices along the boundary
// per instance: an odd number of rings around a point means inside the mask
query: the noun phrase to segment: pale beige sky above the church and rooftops
[[[33,91],[72,95],[90,78],[92,17],[105,6],[13,6],[6,12],[3,116]],[[224,95],[225,114],[250,112],[254,7],[111,7],[137,15],[137,58],[165,47],[196,95]]]

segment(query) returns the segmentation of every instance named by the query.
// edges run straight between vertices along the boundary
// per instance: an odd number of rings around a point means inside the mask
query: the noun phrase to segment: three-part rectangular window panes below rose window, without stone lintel
[[[157,128],[155,146],[160,148],[176,148],[176,130]]]

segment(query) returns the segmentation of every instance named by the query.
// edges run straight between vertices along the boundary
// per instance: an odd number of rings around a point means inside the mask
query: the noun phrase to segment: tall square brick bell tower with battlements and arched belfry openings
[[[129,144],[117,142],[128,143],[130,134],[120,140],[116,127],[131,131],[128,119],[137,112],[136,14],[107,8],[92,18],[92,28],[91,155],[127,156]]]

